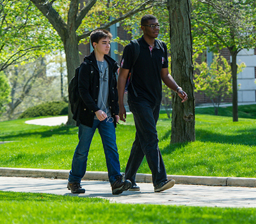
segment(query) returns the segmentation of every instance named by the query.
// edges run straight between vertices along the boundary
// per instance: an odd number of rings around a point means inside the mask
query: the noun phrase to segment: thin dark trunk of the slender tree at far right
[[[233,106],[233,122],[238,122],[238,100],[237,100],[237,64],[236,64],[236,51],[230,51],[231,53],[231,72],[232,72],[232,106]]]

